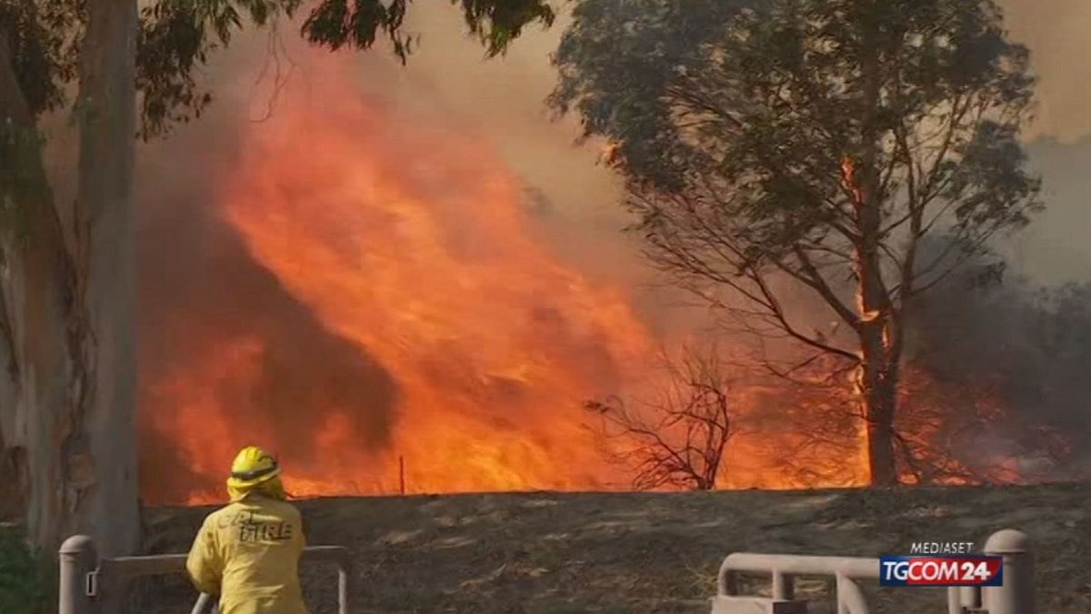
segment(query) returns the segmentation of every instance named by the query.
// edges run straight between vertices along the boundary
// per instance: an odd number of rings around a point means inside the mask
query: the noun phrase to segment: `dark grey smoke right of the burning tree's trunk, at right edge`
[[[968,427],[952,449],[970,464],[1016,458],[1024,479],[1086,475],[1091,282],[1036,288],[1017,278],[982,287],[973,272],[921,296],[910,322],[910,364],[927,375],[950,422]],[[982,402],[1002,408],[999,420],[981,421],[990,417]]]

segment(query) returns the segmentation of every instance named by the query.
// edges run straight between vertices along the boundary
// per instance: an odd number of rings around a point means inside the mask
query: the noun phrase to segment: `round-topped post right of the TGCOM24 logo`
[[[993,533],[985,554],[1004,557],[1004,585],[982,589],[988,614],[1034,614],[1034,559],[1027,534],[1011,529]]]

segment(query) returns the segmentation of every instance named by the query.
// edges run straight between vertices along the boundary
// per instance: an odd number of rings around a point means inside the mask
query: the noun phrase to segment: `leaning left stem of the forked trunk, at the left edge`
[[[27,532],[44,548],[76,530],[69,510],[89,486],[65,444],[80,429],[83,370],[75,273],[41,161],[35,118],[0,37],[0,428]]]

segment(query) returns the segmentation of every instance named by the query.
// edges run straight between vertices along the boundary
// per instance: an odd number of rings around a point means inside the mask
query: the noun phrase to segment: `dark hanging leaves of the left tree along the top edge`
[[[502,54],[527,25],[551,25],[548,0],[451,0],[490,56]],[[302,21],[301,35],[331,49],[370,48],[385,36],[403,61],[412,50],[403,22],[412,0],[322,0]],[[157,0],[141,11],[136,49],[141,133],[165,132],[201,114],[211,102],[194,70],[230,43],[248,22],[262,26],[292,17],[302,0]],[[311,7],[311,4],[308,4]],[[0,0],[0,39],[32,110],[37,115],[64,103],[76,78],[84,0]]]

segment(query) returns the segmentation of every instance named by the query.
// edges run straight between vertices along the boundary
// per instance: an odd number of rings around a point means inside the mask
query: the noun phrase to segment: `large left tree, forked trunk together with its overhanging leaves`
[[[543,0],[452,3],[493,56],[553,19]],[[0,468],[43,547],[74,531],[106,555],[139,545],[133,135],[199,115],[211,96],[194,69],[244,24],[301,4],[0,0]],[[331,48],[385,36],[404,60],[408,4],[323,0],[302,35]],[[52,193],[39,130],[64,110],[80,128],[71,208]]]

